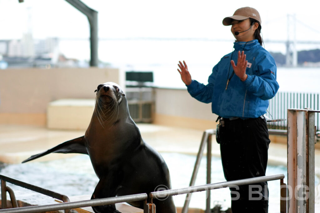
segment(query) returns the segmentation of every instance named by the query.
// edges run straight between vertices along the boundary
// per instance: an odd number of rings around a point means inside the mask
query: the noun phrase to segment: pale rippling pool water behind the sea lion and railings
[[[54,154],[52,154],[54,155]],[[161,153],[166,161],[172,188],[189,186],[196,156],[180,153]],[[2,168],[2,169],[1,169]],[[0,167],[0,173],[36,186],[49,189],[67,196],[92,194],[98,178],[96,177],[90,158],[87,155],[77,155],[70,158],[48,162],[30,162],[26,164],[11,164]],[[287,169],[284,166],[268,165],[266,175],[284,174],[286,182]],[[223,176],[221,159],[212,157],[212,183],[226,181]],[[203,157],[199,167],[195,185],[206,184],[206,159]],[[316,179],[316,186],[319,179]],[[30,204],[55,203],[51,197],[7,183],[15,192],[17,200]],[[279,212],[280,180],[269,181],[269,212]],[[185,194],[173,196],[176,206],[183,206]],[[206,192],[192,194],[189,207],[205,209]],[[211,192],[211,206],[220,204],[223,209],[230,206],[230,191],[228,188],[215,189]]]

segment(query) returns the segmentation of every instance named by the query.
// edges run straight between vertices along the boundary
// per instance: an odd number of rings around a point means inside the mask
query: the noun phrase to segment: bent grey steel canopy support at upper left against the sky
[[[90,24],[90,66],[98,66],[98,12],[80,0],[66,0],[87,16]]]

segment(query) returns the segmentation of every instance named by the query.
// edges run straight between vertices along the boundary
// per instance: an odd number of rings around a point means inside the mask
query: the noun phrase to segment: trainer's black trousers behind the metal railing
[[[220,126],[220,152],[227,181],[265,176],[269,134],[264,118],[224,120]],[[268,212],[268,183],[231,187],[231,209],[237,212]]]

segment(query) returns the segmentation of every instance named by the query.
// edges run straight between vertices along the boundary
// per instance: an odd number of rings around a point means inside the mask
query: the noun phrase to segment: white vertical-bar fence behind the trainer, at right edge
[[[272,119],[287,118],[287,109],[319,109],[318,93],[302,93],[302,92],[278,92],[275,97],[269,100],[268,112]],[[320,130],[320,116],[316,114],[315,124],[316,130]],[[269,123],[272,129],[287,129],[287,121]]]

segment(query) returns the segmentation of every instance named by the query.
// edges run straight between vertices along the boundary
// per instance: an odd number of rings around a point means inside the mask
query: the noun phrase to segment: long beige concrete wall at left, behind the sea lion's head
[[[118,69],[52,68],[0,70],[0,123],[45,125],[48,103],[62,98],[94,99],[101,83],[120,86]]]

